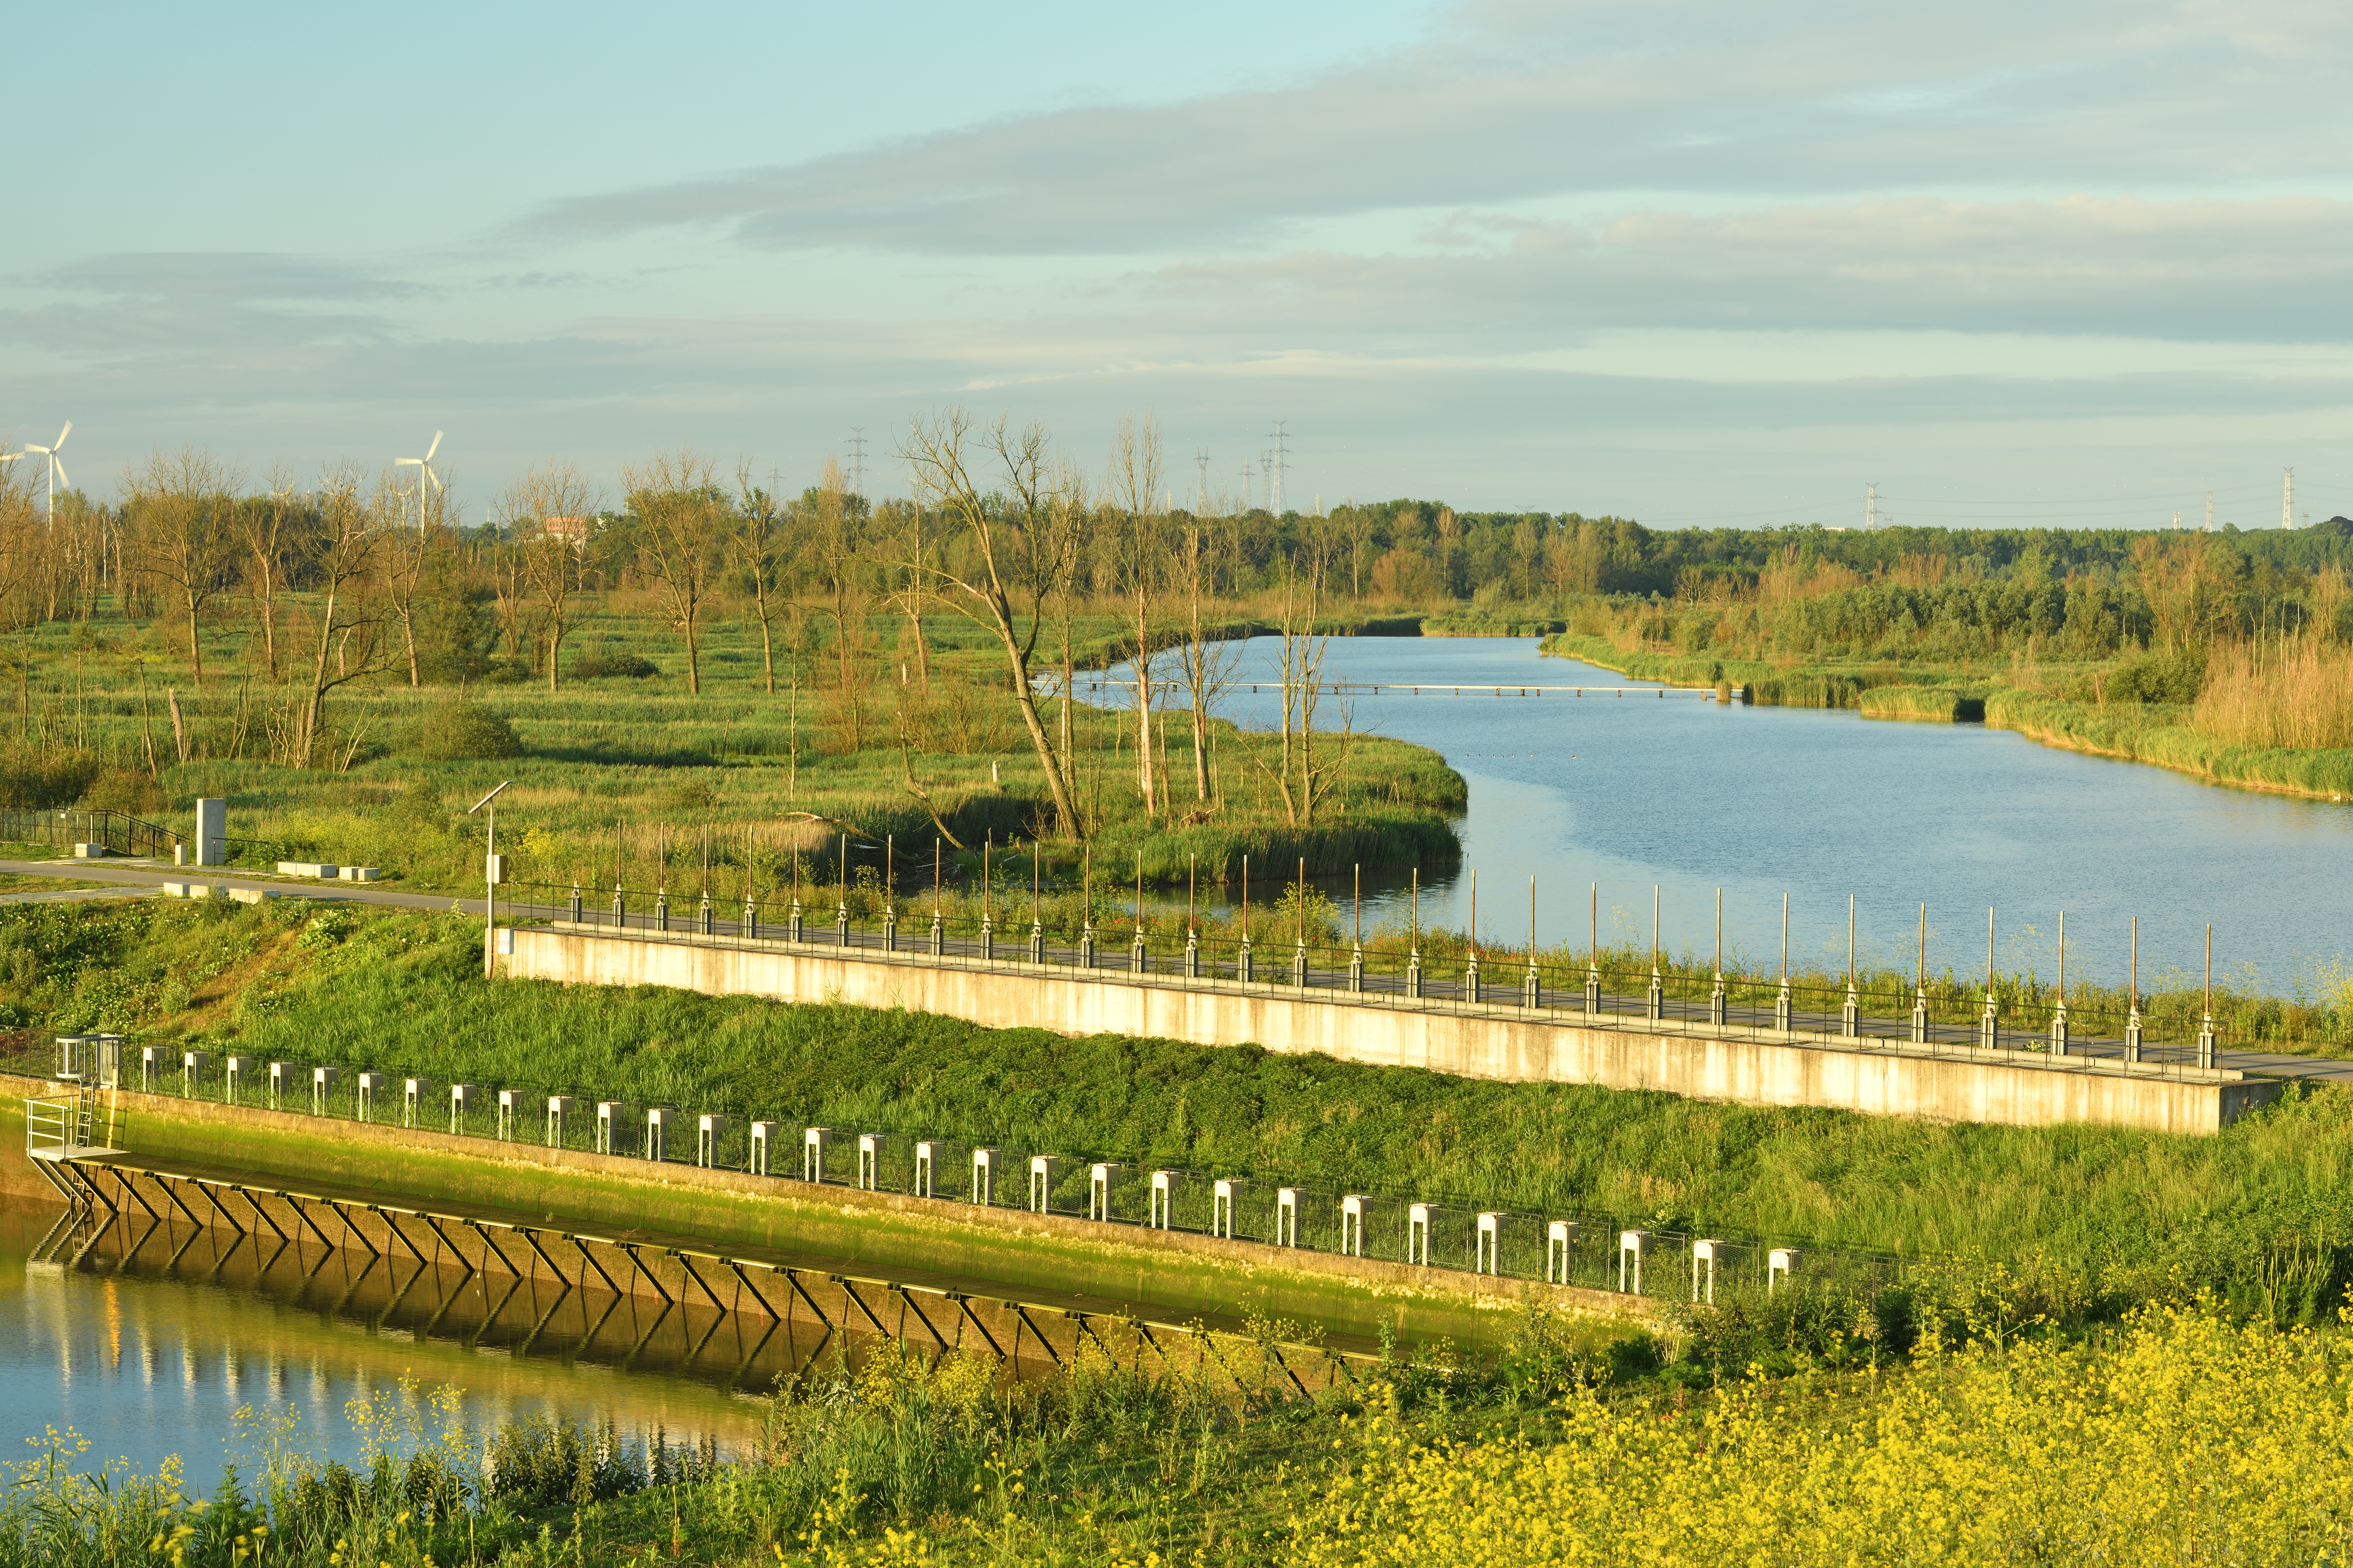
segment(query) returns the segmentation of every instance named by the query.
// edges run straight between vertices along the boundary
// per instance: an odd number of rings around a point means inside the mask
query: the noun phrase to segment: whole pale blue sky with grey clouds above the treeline
[[[0,440],[113,496],[908,421],[1657,527],[2353,512],[2353,9],[64,7]],[[38,461],[38,458],[35,458]],[[31,468],[31,463],[28,463]]]

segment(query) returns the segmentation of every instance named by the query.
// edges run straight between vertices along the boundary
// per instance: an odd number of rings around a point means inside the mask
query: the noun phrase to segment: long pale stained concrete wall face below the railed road
[[[2045,1065],[2033,1053],[1993,1058],[1955,1046],[1932,1056],[1897,1041],[1873,1041],[1864,1051],[1835,1037],[1711,1034],[1694,1025],[1652,1030],[1647,1020],[1621,1018],[1612,1018],[1612,1027],[1588,1027],[1574,1013],[1515,1006],[1466,1009],[1325,990],[1301,997],[1289,985],[1186,983],[929,954],[842,954],[699,936],[525,926],[515,931],[515,952],[501,959],[501,971],[567,985],[673,985],[784,1001],[849,1001],[1061,1034],[1118,1032],[1202,1046],[1247,1041],[1268,1051],[1320,1051],[1348,1063],[1515,1084],[1659,1088],[1697,1100],[1824,1105],[1934,1121],[2106,1121],[2212,1133],[2278,1098],[2278,1084],[2238,1072],[2127,1070],[2085,1058]]]

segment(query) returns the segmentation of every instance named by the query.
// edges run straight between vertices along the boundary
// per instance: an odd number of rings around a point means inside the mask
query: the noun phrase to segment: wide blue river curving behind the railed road
[[[1278,698],[1249,682],[1275,679],[1278,642],[1235,656],[1242,684],[1219,712],[1266,729]],[[1353,698],[1355,724],[1435,748],[1471,780],[1464,863],[1424,877],[1421,919],[1468,924],[1475,870],[1492,943],[1527,940],[1534,875],[1541,943],[1586,943],[1598,882],[1605,940],[1649,940],[1657,884],[1666,945],[1706,952],[1722,889],[1727,954],[1767,966],[1784,893],[1793,954],[1842,966],[1854,893],[1861,950],[1906,964],[1925,900],[1932,969],[1984,969],[1993,905],[2005,969],[2052,973],[2066,910],[2071,980],[2125,980],[2134,914],[2144,983],[2195,971],[2205,922],[2217,976],[2297,992],[2348,973],[2353,804],[2221,790],[1981,724],[1640,698],[1657,686],[1520,637],[1344,637],[1325,677],[1421,682],[1424,696]],[[1440,691],[1457,684],[1466,696]],[[1522,684],[1628,696],[1468,696]],[[1367,877],[1367,922],[1402,919],[1402,903]]]

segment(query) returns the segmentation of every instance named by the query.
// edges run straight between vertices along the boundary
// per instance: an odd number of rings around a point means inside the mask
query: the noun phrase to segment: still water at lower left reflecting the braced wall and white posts
[[[212,1490],[224,1462],[252,1474],[240,1408],[289,1420],[296,1448],[348,1462],[360,1441],[346,1406],[400,1401],[402,1380],[419,1396],[456,1387],[473,1429],[546,1410],[732,1450],[760,1429],[751,1389],[772,1387],[793,1354],[772,1340],[746,1356],[734,1321],[696,1342],[708,1319],[654,1324],[635,1302],[588,1333],[576,1293],[506,1298],[511,1281],[456,1272],[412,1281],[409,1267],[315,1246],[268,1258],[188,1227],[158,1227],[134,1251],[144,1222],[118,1225],[82,1267],[28,1265],[59,1213],[0,1206],[0,1446],[14,1450],[0,1458],[31,1458],[19,1439],[73,1427],[89,1439],[85,1467],[179,1455]],[[433,1422],[426,1410],[428,1436]]]

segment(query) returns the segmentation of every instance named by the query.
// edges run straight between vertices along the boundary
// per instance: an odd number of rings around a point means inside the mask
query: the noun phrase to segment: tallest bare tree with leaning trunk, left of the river
[[[1047,484],[1047,435],[1040,425],[1021,433],[998,421],[981,437],[1005,468],[1009,494],[998,501],[984,496],[972,480],[972,416],[965,409],[946,409],[932,418],[908,423],[906,444],[899,456],[915,473],[918,505],[932,496],[941,522],[962,545],[969,564],[929,567],[932,581],[948,590],[948,604],[986,625],[1005,654],[1005,682],[1028,726],[1038,766],[1045,771],[1045,788],[1054,799],[1056,832],[1078,837],[1078,809],[1071,799],[1061,757],[1054,752],[1045,724],[1038,719],[1038,693],[1031,686],[1031,654],[1038,649],[1038,630],[1045,625],[1045,602],[1068,585],[1071,550],[1068,529],[1056,527],[1054,496]],[[1026,616],[1021,607],[1026,604]]]

